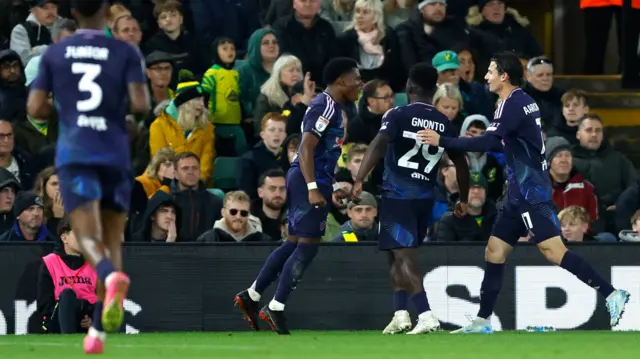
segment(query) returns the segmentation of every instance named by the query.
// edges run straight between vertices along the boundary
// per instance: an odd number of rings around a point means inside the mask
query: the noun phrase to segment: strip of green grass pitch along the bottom
[[[86,358],[82,336],[0,336],[0,358]],[[380,332],[296,331],[111,335],[100,358],[118,359],[589,359],[640,358],[640,334],[609,331],[383,336]]]

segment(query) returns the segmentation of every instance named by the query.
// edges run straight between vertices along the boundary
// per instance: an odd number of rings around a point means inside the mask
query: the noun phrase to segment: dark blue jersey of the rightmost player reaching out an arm
[[[535,100],[522,89],[513,90],[498,105],[485,134],[499,136],[504,143],[509,203],[552,201],[540,109]]]

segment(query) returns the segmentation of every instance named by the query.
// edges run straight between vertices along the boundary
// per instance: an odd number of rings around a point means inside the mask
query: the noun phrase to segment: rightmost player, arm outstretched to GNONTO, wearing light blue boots
[[[484,78],[501,102],[483,136],[450,138],[431,130],[419,133],[425,143],[447,150],[504,151],[510,173],[507,204],[493,226],[485,250],[486,267],[480,288],[478,317],[453,333],[493,331],[488,318],[493,313],[502,286],[504,263],[518,238],[526,236],[530,236],[549,262],[573,273],[606,298],[610,324],[615,327],[629,301],[629,293],[614,289],[589,263],[569,251],[562,242],[560,224],[551,200],[540,110],[535,101],[518,87],[522,79],[518,57],[510,52],[496,54]]]

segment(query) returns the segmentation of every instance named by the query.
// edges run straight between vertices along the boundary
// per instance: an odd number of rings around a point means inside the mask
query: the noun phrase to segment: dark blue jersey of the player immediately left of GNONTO
[[[316,96],[311,101],[309,108],[307,108],[302,120],[302,133],[305,132],[309,132],[320,139],[313,152],[316,180],[331,183],[338,158],[342,153],[344,125],[342,123],[340,105],[326,92]],[[300,161],[296,153],[291,167],[299,166]]]

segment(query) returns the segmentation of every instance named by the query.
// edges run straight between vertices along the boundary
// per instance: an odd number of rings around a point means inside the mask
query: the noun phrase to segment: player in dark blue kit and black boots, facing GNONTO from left
[[[330,85],[313,99],[304,115],[302,140],[287,173],[289,237],[267,258],[251,287],[234,299],[256,330],[260,295],[280,273],[274,299],[259,314],[273,331],[289,334],[283,315],[285,302],[318,253],[332,193],[339,199],[346,196],[333,179],[347,127],[340,106],[358,99],[362,81],[358,64],[348,58],[331,60],[323,78]]]

